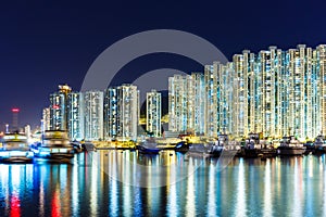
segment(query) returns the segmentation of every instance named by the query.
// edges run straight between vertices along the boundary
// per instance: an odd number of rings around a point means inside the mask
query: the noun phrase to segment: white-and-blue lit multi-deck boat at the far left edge
[[[32,162],[34,153],[27,143],[27,137],[22,133],[5,133],[0,148],[1,162]]]

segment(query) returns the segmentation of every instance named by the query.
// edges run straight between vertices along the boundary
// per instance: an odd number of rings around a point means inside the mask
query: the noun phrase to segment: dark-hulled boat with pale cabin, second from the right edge
[[[279,155],[302,155],[306,148],[298,141],[294,136],[284,137],[280,145],[277,148]]]

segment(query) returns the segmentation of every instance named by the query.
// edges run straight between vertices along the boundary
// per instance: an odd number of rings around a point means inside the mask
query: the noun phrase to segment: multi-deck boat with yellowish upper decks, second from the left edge
[[[41,158],[72,158],[74,157],[74,148],[64,130],[46,130],[42,141],[33,145],[36,157]]]

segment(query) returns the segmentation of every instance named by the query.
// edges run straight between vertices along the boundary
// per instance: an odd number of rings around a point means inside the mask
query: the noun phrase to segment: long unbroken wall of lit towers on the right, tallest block
[[[241,139],[262,132],[265,138],[296,136],[303,141],[326,136],[325,76],[325,44],[286,51],[269,47],[258,54],[244,50],[230,63],[205,66],[203,98],[201,85],[190,81],[200,76],[170,78],[170,130],[198,131],[196,124],[203,120],[204,133],[214,137],[229,133]],[[203,99],[204,115],[193,115],[201,104],[196,98]]]

